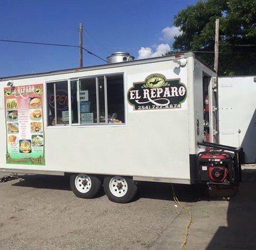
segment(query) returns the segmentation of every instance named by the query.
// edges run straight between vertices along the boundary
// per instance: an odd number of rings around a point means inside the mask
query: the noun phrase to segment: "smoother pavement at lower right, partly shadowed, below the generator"
[[[256,249],[256,166],[243,166],[242,178],[229,201],[201,194],[197,201],[187,203],[193,214],[187,250]],[[181,212],[151,250],[180,249],[187,222],[188,215]]]

